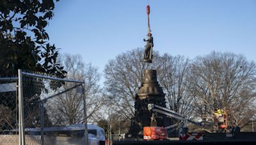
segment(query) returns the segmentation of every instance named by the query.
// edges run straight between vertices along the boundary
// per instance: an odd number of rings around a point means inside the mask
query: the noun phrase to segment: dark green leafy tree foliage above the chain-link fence
[[[58,49],[47,43],[47,20],[53,17],[54,0],[0,1],[0,76],[17,69],[64,76]]]

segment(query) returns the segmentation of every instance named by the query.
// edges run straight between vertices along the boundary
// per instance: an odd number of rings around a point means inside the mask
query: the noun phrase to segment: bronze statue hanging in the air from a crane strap
[[[147,41],[147,44],[145,45],[143,62],[152,63],[152,48],[154,47],[153,37],[150,32],[147,34],[147,36],[147,40],[143,39],[143,41]]]

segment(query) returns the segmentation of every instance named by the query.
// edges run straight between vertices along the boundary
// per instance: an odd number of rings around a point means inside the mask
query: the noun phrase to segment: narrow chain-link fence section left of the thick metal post
[[[0,144],[18,142],[18,78],[0,78]]]

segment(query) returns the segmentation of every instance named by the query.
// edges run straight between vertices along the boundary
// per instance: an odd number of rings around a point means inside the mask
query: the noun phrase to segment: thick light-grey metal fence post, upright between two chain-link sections
[[[23,104],[23,90],[22,90],[22,71],[18,70],[19,74],[19,144],[25,144],[25,130],[24,130],[24,104]]]

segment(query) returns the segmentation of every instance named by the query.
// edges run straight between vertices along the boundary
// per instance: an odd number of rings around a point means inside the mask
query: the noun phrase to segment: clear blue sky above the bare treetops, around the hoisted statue
[[[149,0],[154,50],[193,59],[213,50],[254,60],[255,0]],[[61,53],[104,70],[109,59],[143,47],[147,0],[61,0],[47,32]]]

